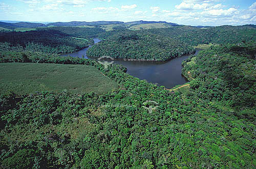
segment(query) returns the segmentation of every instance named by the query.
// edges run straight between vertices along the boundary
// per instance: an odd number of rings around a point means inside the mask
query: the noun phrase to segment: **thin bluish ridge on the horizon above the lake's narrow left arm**
[[[91,26],[91,25],[111,25],[111,24],[122,24],[122,21],[71,21],[71,22],[53,22],[48,23],[46,26],[56,27],[77,27],[77,26]]]

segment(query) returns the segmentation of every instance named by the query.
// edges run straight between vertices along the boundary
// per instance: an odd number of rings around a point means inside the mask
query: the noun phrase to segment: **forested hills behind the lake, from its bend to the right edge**
[[[130,38],[130,36],[134,36]],[[198,44],[237,44],[256,41],[256,29],[248,26],[221,26],[195,28],[176,26],[172,28],[140,31],[115,30],[99,34],[105,41],[88,50],[89,56],[111,56],[165,61],[195,51]]]

